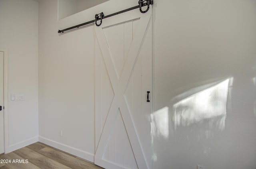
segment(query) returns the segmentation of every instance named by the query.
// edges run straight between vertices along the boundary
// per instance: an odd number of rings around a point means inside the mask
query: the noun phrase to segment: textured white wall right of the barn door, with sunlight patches
[[[255,168],[256,1],[154,2],[153,168]]]

